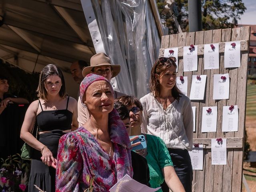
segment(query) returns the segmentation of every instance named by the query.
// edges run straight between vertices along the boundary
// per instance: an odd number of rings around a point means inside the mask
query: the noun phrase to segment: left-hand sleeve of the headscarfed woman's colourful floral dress
[[[78,192],[82,156],[74,134],[60,138],[56,166],[56,192]]]

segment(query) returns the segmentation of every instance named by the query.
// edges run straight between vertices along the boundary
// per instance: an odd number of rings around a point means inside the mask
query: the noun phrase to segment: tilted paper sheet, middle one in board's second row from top
[[[204,100],[206,75],[192,75],[190,100]]]

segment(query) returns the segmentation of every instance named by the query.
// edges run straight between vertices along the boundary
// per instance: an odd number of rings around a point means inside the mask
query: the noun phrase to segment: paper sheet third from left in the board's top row
[[[204,70],[219,68],[219,44],[204,45]]]

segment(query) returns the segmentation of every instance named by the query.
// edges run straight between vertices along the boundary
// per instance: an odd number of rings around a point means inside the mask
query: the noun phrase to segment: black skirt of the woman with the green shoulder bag
[[[48,147],[52,152],[53,157],[57,158],[59,140],[62,135],[62,131],[52,131],[49,133],[43,133],[39,135],[39,141]],[[28,192],[38,191],[34,185],[46,192],[55,192],[55,176],[56,169],[51,166],[48,167],[40,159],[42,154],[38,150],[33,150],[33,159],[31,162],[31,171],[28,182]]]

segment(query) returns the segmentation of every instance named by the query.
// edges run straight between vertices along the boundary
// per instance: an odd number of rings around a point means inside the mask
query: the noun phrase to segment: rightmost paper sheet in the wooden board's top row
[[[224,67],[240,66],[240,41],[226,42],[224,52]]]

